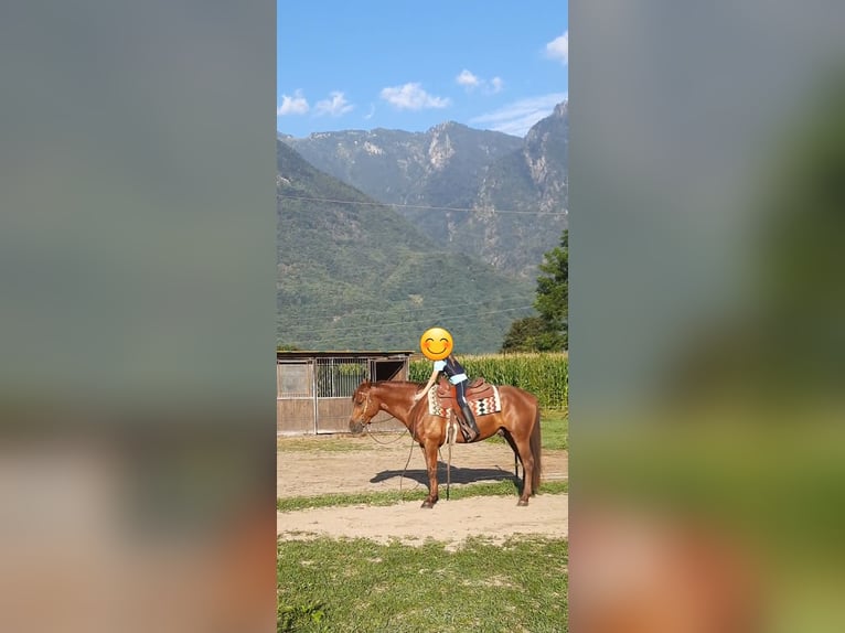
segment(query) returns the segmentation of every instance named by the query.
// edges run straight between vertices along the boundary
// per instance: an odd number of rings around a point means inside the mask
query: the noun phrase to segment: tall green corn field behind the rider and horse
[[[565,353],[484,354],[457,356],[470,379],[484,377],[494,385],[513,385],[534,394],[549,409],[569,407],[569,357]],[[411,360],[408,379],[425,383],[431,361]]]

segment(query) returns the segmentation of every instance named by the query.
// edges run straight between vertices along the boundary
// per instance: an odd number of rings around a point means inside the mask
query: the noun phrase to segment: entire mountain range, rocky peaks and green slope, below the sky
[[[279,344],[407,348],[432,325],[495,352],[533,313],[566,226],[566,104],[524,139],[427,132],[277,138]]]

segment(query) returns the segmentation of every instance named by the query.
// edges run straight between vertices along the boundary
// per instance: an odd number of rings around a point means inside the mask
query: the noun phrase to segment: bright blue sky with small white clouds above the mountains
[[[524,136],[567,98],[568,1],[278,0],[281,133],[443,121]]]

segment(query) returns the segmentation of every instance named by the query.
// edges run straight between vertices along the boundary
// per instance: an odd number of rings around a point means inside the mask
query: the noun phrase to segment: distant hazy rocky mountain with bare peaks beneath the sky
[[[524,139],[446,122],[280,139],[318,169],[392,205],[440,248],[533,280],[566,227],[568,106]]]

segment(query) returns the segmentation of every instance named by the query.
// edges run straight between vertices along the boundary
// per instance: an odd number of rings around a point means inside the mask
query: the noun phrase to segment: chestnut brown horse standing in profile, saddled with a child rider
[[[350,430],[353,433],[362,432],[379,411],[387,411],[404,423],[426,458],[428,496],[421,507],[431,508],[439,498],[437,453],[447,441],[447,418],[429,414],[428,398],[415,399],[424,386],[420,383],[404,380],[361,383],[352,395]],[[504,436],[514,455],[518,455],[522,462],[523,485],[517,505],[525,506],[528,505],[528,497],[539,489],[539,406],[533,394],[517,387],[500,386],[499,396],[501,411],[475,416],[480,433],[473,441],[485,440],[500,432]],[[464,439],[461,433],[454,433],[454,441],[462,443]]]

